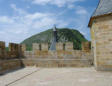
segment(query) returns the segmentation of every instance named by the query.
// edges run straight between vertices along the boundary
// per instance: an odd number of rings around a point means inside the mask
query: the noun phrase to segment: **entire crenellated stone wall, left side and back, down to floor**
[[[48,50],[48,43],[34,43],[32,51],[26,45],[0,42],[0,73],[24,66],[37,67],[88,67],[93,64],[89,43],[83,43],[82,50],[73,50],[73,43],[57,43],[56,51]]]

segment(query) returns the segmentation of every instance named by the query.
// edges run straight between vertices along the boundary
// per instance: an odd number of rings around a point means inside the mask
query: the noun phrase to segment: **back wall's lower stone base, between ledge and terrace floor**
[[[27,59],[23,60],[25,66],[37,66],[37,67],[90,67],[93,65],[92,60],[87,59]]]

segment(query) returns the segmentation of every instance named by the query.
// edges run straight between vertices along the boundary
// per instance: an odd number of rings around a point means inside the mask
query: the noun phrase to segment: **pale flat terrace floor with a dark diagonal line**
[[[112,86],[112,72],[94,68],[27,67],[0,76],[0,86]]]

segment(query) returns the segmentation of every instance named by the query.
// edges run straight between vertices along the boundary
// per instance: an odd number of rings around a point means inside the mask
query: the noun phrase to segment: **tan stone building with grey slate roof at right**
[[[97,70],[112,70],[112,0],[100,0],[89,27]]]

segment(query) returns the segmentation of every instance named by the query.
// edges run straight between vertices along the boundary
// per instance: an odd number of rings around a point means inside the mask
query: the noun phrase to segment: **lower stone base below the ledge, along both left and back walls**
[[[90,67],[93,61],[89,59],[13,59],[0,61],[0,74],[25,66],[36,67]]]

